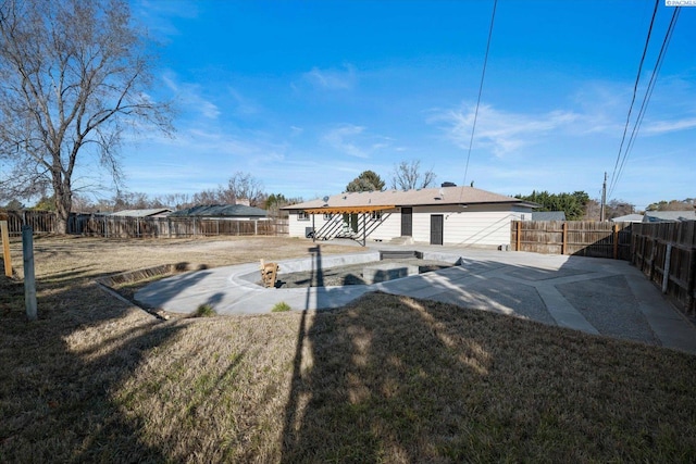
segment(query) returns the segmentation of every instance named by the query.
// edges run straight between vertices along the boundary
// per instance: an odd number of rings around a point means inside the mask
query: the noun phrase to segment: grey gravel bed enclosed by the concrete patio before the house
[[[373,261],[369,263],[360,263],[350,266],[336,266],[316,272],[302,272],[279,274],[276,283],[277,288],[307,288],[307,287],[335,287],[343,285],[364,285],[366,284],[362,277],[362,271],[366,266],[373,266],[381,263],[399,263],[408,265],[418,265],[419,274],[451,267],[451,264],[440,261],[405,259],[405,260],[384,260]],[[261,285],[261,281],[258,281]]]

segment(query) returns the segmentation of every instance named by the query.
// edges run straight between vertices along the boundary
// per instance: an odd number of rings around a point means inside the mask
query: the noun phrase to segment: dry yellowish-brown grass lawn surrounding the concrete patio
[[[696,461],[693,355],[383,293],[163,322],[94,284],[310,246],[37,239],[39,321],[0,279],[0,462]]]

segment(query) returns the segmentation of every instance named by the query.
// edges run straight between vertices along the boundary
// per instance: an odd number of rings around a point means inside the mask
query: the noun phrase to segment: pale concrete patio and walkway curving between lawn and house
[[[696,354],[696,328],[659,289],[625,261],[448,247],[373,243],[355,254],[281,261],[285,273],[380,260],[378,250],[418,250],[423,259],[452,264],[422,275],[373,285],[265,289],[259,264],[197,271],[153,283],[135,298],[173,313],[211,304],[219,314],[269,313],[278,302],[295,310],[344,306],[369,292],[384,291],[470,309],[669,347]]]

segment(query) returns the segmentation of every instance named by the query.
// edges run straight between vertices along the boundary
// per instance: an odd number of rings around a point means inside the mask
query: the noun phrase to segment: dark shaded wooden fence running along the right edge
[[[696,315],[696,222],[633,226],[632,263],[687,315]]]

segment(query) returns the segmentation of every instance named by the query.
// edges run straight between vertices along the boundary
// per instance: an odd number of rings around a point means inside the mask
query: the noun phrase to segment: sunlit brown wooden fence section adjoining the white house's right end
[[[631,260],[632,223],[513,221],[514,251]]]

